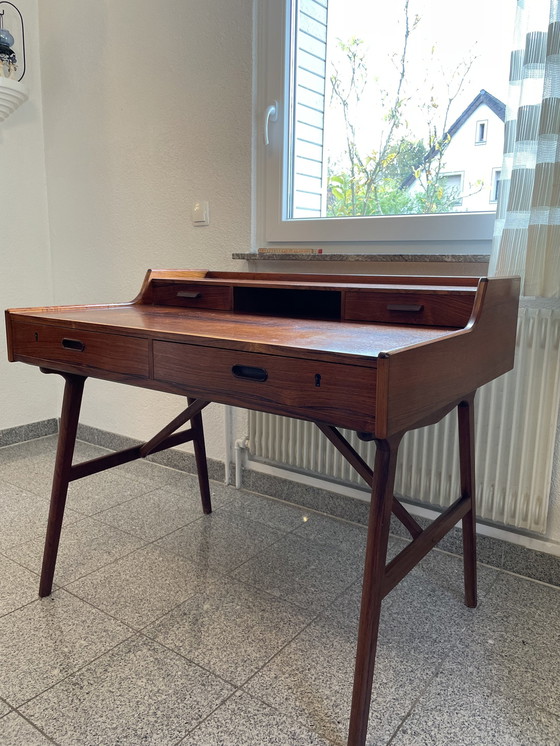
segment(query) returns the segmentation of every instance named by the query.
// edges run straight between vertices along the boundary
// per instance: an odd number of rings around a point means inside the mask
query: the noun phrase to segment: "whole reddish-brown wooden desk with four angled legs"
[[[51,592],[70,481],[193,441],[209,513],[209,402],[311,420],[371,486],[348,735],[363,746],[382,599],[459,520],[465,602],[476,605],[473,400],[513,366],[518,295],[518,278],[153,270],[130,303],[7,311],[9,359],[66,382],[39,594]],[[72,465],[88,376],[188,406],[147,443]],[[422,530],[393,495],[398,446],[455,407],[461,494]],[[376,442],[373,471],[337,427]],[[386,565],[391,512],[411,542]]]

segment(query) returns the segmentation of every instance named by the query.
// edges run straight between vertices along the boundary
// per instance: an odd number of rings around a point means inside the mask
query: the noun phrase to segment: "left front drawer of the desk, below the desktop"
[[[13,323],[14,357],[37,365],[71,363],[147,377],[148,340],[47,324]]]

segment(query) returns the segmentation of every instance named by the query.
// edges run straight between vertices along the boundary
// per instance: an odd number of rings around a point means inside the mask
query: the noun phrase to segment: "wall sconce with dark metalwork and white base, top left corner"
[[[15,39],[4,28],[4,13],[2,6],[8,5],[13,8],[15,13],[11,13],[16,20],[19,16],[19,26],[21,28],[21,74],[19,62],[16,58],[12,47]],[[17,13],[17,16],[16,16]],[[2,0],[0,2],[0,122],[4,121],[18,106],[27,101],[29,92],[21,82],[25,75],[25,31],[23,26],[23,16],[13,3]]]

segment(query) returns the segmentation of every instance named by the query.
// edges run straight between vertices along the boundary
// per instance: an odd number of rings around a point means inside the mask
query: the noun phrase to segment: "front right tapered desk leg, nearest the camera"
[[[389,440],[376,440],[348,746],[364,746],[366,742],[400,439],[398,436]]]

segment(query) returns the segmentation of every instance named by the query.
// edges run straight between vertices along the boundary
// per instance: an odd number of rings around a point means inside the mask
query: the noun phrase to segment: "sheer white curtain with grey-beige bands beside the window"
[[[560,3],[518,0],[489,274],[560,298]]]

